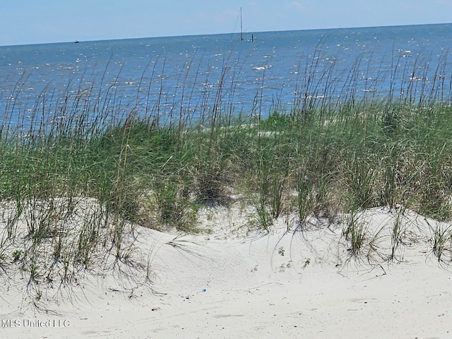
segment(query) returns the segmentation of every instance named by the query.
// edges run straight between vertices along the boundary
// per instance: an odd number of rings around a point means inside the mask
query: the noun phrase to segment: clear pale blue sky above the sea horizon
[[[0,46],[451,23],[452,0],[0,0]]]

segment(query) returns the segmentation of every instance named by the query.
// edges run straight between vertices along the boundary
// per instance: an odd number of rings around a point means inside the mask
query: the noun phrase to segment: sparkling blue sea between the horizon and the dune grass
[[[173,119],[290,112],[308,96],[387,99],[408,89],[451,101],[451,33],[439,24],[0,47],[2,125],[54,119],[68,107]]]

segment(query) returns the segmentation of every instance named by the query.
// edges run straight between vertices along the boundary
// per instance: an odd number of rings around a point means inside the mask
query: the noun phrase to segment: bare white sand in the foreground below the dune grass
[[[432,254],[433,220],[405,213],[401,260],[376,263],[371,251],[369,264],[369,246],[347,260],[342,225],[293,232],[289,220],[285,234],[281,218],[263,234],[246,232],[237,210],[217,212],[203,218],[210,234],[172,245],[174,234],[139,231],[152,288],[88,276],[72,299],[49,302],[55,315],[24,304],[19,279],[4,285],[1,338],[452,338],[452,270]],[[394,215],[374,209],[362,220],[369,234],[383,227],[374,246],[388,254]]]

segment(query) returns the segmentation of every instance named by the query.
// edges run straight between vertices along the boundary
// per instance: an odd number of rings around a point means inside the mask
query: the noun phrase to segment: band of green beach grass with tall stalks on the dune
[[[361,210],[450,220],[450,88],[408,79],[398,95],[358,97],[350,93],[354,72],[339,97],[328,95],[335,84],[327,75],[303,79],[287,111],[234,114],[222,102],[225,78],[206,94],[210,109],[173,107],[170,119],[149,105],[142,112],[142,102],[121,105],[114,88],[102,105],[96,93],[66,93],[26,123],[26,112],[6,107],[0,272],[25,273],[35,295],[40,283],[73,283],[112,261],[144,265],[148,277],[149,263],[131,262],[136,227],[199,232],[198,210],[230,206],[237,194],[264,232],[282,215],[297,215],[304,230],[311,215],[334,222],[349,213],[343,235],[353,256],[369,236]],[[36,107],[46,97],[51,90]],[[391,260],[400,227],[393,225]],[[435,230],[439,260],[450,239],[450,229]]]

